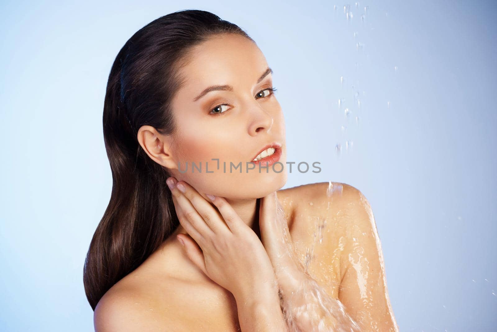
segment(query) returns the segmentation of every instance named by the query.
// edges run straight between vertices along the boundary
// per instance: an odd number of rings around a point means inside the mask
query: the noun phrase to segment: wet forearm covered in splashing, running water
[[[282,308],[290,332],[360,331],[345,312],[343,304],[332,298],[311,276],[280,276]]]

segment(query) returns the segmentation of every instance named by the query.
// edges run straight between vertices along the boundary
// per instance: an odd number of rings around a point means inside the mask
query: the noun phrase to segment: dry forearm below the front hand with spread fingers
[[[242,332],[288,332],[276,284],[234,296]]]

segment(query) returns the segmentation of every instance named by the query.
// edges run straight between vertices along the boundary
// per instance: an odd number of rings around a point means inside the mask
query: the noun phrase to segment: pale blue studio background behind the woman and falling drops
[[[180,2],[0,4],[1,330],[92,331],[107,75],[134,32],[194,8],[257,42],[288,161],[321,162],[284,188],[331,180],[369,200],[401,331],[495,331],[496,2],[350,2],[348,20],[342,2]]]

